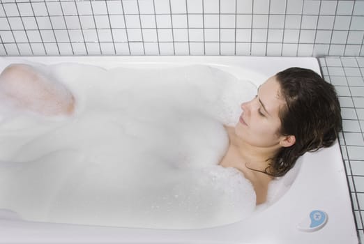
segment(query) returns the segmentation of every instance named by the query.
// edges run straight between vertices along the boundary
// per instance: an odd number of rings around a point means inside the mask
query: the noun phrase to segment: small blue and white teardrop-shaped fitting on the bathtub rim
[[[297,229],[307,232],[317,231],[324,227],[327,219],[327,213],[320,210],[314,210],[311,211],[310,218],[305,218],[305,220],[297,225]]]

